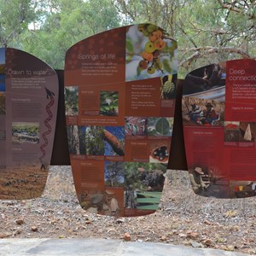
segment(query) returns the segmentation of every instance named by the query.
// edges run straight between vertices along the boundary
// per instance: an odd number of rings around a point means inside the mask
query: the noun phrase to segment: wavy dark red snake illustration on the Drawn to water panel
[[[50,108],[51,108],[51,107],[54,105],[54,103],[55,103],[55,99],[54,99],[55,94],[54,94],[54,92],[48,90],[47,88],[45,88],[45,90],[46,90],[46,97],[47,97],[47,99],[49,99],[50,101],[49,101],[49,103],[48,103],[48,104],[46,105],[46,107],[45,107],[45,110],[46,110],[46,112],[48,113],[47,119],[44,120],[44,125],[47,127],[47,131],[44,131],[44,133],[43,133],[43,135],[42,135],[42,137],[43,137],[43,139],[44,139],[44,144],[42,144],[41,147],[40,147],[40,150],[41,150],[41,152],[42,152],[42,155],[41,155],[40,158],[39,158],[39,160],[40,160],[40,162],[41,162],[41,170],[44,170],[44,171],[45,171],[45,169],[46,169],[46,167],[44,166],[44,163],[43,163],[43,159],[44,159],[44,156],[45,156],[45,154],[46,154],[44,148],[48,145],[48,139],[47,139],[46,136],[49,135],[49,133],[51,132],[51,126],[49,125],[49,121],[50,121],[50,120],[52,119],[52,117],[53,117],[53,114],[51,113]]]

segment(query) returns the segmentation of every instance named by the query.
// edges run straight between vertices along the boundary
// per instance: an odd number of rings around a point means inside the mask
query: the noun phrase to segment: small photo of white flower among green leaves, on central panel
[[[100,92],[100,104],[101,115],[119,115],[119,92],[111,90],[102,90]]]

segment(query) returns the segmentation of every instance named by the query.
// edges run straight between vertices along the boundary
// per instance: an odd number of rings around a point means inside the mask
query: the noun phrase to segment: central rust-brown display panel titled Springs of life
[[[177,43],[159,26],[119,27],[68,49],[67,137],[86,211],[128,217],[158,208],[176,80]]]

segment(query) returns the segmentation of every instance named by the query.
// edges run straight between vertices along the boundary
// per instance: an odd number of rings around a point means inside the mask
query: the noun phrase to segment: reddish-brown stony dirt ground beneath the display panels
[[[188,172],[171,171],[160,208],[137,218],[94,215],[79,207],[70,166],[51,166],[42,197],[0,201],[0,238],[114,238],[256,254],[256,198],[195,195]]]

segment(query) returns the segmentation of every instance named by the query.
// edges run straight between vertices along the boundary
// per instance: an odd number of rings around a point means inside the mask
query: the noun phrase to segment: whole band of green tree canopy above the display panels
[[[255,58],[255,0],[0,0],[0,46],[26,50],[54,68],[67,49],[118,26],[154,23],[177,40],[181,72]]]

